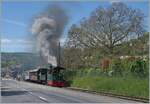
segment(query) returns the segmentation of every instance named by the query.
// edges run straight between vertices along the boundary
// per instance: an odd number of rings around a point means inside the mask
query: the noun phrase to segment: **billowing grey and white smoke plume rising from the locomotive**
[[[32,25],[38,52],[53,66],[57,66],[58,43],[67,21],[64,9],[55,5],[35,18]]]

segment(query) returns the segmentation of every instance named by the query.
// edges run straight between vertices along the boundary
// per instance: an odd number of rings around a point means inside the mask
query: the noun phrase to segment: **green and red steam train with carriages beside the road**
[[[54,87],[64,87],[63,67],[57,66],[50,68],[37,68],[25,72],[24,80],[36,83],[46,84]]]

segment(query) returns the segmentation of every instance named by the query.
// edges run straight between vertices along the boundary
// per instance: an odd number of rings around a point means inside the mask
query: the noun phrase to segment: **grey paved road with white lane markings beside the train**
[[[2,103],[136,103],[125,99],[11,79],[1,81],[1,91]]]

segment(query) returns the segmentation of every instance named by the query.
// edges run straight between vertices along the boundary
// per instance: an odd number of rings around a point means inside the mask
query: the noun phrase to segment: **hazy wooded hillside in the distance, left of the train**
[[[45,65],[38,54],[33,53],[1,53],[2,76],[10,73],[12,76],[22,74],[26,70]]]

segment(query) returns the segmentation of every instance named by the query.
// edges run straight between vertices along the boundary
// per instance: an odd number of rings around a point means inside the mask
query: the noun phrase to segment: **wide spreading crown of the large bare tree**
[[[68,46],[79,48],[104,47],[110,54],[114,48],[137,38],[144,32],[144,14],[123,3],[108,8],[97,8],[80,25],[72,25],[68,33]]]

